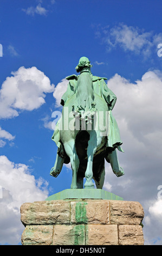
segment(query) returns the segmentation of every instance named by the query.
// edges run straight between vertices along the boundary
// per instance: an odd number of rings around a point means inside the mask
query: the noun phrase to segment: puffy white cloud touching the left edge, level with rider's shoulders
[[[54,90],[49,78],[35,66],[11,72],[0,90],[0,118],[16,117],[22,110],[32,111],[45,103],[46,93]]]

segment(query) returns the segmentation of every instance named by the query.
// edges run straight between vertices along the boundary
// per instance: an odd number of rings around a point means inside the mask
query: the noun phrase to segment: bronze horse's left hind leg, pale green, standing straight
[[[77,156],[75,149],[75,141],[69,141],[64,143],[64,149],[67,155],[70,157],[70,163],[72,166],[72,184],[70,188],[77,188],[77,170],[79,168],[79,157]]]

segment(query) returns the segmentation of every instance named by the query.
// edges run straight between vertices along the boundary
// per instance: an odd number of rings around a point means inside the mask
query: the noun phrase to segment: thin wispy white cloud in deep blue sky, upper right
[[[162,33],[145,32],[144,29],[127,26],[124,23],[112,28],[98,26],[97,31],[95,33],[102,38],[108,51],[118,47],[124,51],[142,54],[144,57],[150,56],[152,51],[157,50],[157,44],[162,41]]]

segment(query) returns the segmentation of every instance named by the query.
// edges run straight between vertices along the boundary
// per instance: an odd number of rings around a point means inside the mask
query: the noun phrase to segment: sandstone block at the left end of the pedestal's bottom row
[[[51,245],[53,225],[27,225],[22,234],[22,245]]]

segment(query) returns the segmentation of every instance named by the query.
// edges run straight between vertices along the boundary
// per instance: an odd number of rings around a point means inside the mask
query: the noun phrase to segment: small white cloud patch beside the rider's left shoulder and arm
[[[53,96],[56,99],[56,107],[60,107],[61,97],[67,90],[68,80],[66,78],[62,79],[60,83],[54,89]]]

